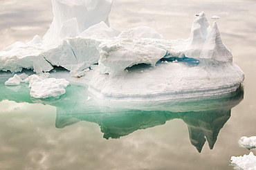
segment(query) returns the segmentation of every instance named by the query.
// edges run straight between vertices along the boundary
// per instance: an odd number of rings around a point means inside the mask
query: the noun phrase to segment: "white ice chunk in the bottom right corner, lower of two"
[[[256,156],[253,155],[253,152],[250,152],[249,155],[231,157],[231,163],[237,167],[244,170],[255,170],[256,169]]]

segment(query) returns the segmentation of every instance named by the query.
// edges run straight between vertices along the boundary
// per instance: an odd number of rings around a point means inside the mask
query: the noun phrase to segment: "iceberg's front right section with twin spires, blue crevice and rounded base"
[[[188,40],[113,40],[102,45],[98,70],[89,86],[91,93],[104,100],[143,102],[219,95],[235,91],[244,80],[221,41],[217,23],[210,28],[203,12],[194,21]],[[159,59],[175,62],[156,64]]]

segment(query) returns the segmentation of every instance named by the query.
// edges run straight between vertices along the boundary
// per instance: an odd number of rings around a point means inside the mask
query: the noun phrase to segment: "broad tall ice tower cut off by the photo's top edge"
[[[53,23],[44,40],[75,37],[87,28],[104,21],[109,26],[112,0],[52,0]]]

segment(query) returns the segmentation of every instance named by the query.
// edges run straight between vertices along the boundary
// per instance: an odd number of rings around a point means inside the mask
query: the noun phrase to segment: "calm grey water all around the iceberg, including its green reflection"
[[[220,16],[244,88],[140,111],[86,101],[86,87],[75,85],[59,99],[35,100],[25,84],[4,86],[1,73],[0,169],[233,169],[231,156],[249,153],[239,138],[256,135],[255,7],[244,0],[114,0],[113,28],[150,26],[165,39],[188,38],[196,13],[204,11],[210,24]],[[51,1],[0,0],[0,48],[42,37],[52,17]]]

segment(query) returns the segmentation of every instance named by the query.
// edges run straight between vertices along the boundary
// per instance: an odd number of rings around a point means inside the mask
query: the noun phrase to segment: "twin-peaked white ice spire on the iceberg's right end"
[[[232,54],[221,40],[216,21],[210,28],[204,12],[201,12],[192,24],[185,56],[199,59],[201,63],[232,62]]]

